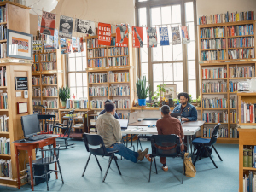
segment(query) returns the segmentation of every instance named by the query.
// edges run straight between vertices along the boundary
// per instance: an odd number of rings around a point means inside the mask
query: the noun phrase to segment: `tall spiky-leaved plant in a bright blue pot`
[[[151,95],[151,93],[149,93],[149,84],[148,86],[146,85],[146,76],[137,79],[136,88],[139,106],[146,106],[146,98]]]

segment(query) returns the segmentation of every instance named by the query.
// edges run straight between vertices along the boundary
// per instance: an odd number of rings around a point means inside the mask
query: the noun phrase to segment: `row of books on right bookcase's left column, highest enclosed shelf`
[[[200,38],[223,38],[225,37],[225,27],[202,28]]]

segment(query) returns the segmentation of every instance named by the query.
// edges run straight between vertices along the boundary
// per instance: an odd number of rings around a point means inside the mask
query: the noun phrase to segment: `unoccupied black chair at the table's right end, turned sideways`
[[[219,156],[216,148],[213,146],[216,141],[217,141],[217,137],[218,137],[218,129],[219,129],[219,126],[220,124],[216,125],[212,131],[212,137],[211,139],[207,139],[207,138],[195,138],[192,143],[194,145],[200,145],[200,148],[199,148],[199,153],[197,153],[196,157],[195,157],[195,161],[194,161],[194,166],[195,166],[195,163],[196,163],[196,160],[198,159],[199,157],[199,160],[201,160],[201,156],[202,156],[202,148],[204,148],[204,150],[207,152],[208,156],[210,157],[210,159],[212,160],[212,157],[211,157],[211,154],[209,154],[208,150],[207,150],[207,146],[208,147],[211,147],[214,149],[214,151],[216,152],[216,154],[218,155],[218,158],[219,160],[223,161],[221,159],[221,157]],[[218,168],[218,166],[215,164],[214,160],[212,160],[212,163],[214,164],[214,166],[216,168]]]

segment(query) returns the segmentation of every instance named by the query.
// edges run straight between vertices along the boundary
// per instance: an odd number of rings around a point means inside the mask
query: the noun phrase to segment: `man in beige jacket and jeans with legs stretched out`
[[[100,115],[96,121],[98,135],[102,136],[107,152],[119,150],[116,154],[123,156],[126,160],[137,163],[137,160],[143,160],[144,156],[148,154],[148,148],[143,152],[134,152],[120,142],[122,139],[121,127],[119,121],[113,117],[114,108],[113,102],[105,104],[106,113]]]

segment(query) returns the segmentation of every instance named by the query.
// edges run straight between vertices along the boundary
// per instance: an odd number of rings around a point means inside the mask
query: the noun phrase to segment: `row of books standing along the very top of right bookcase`
[[[243,20],[255,20],[254,11],[242,11],[226,14],[216,14],[216,15],[203,15],[199,17],[199,25],[207,25],[214,23],[228,23]]]

